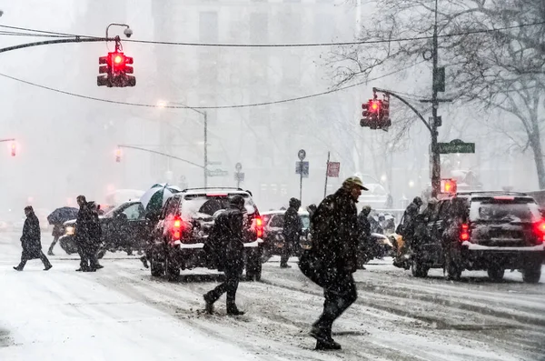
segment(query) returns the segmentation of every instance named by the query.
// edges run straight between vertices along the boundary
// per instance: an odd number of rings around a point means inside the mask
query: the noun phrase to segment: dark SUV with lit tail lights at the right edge
[[[500,280],[518,269],[538,283],[545,258],[545,221],[524,193],[461,192],[442,199],[431,215],[418,216],[412,245],[413,276],[444,268],[451,279],[467,270],[487,270]]]

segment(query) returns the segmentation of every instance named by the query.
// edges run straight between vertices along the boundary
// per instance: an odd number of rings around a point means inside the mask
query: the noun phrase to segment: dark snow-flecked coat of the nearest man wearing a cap
[[[357,270],[358,210],[344,188],[325,197],[312,217],[312,256],[320,267],[337,272]]]

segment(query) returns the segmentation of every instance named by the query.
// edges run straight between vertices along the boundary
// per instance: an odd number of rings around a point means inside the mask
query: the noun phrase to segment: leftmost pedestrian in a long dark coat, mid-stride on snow
[[[21,236],[21,246],[23,246],[21,263],[18,266],[15,266],[14,269],[16,271],[23,271],[26,261],[40,258],[45,266],[44,271],[47,271],[52,266],[44,255],[44,252],[42,252],[40,221],[35,215],[32,206],[25,207],[25,215],[25,226],[23,226],[23,236]]]

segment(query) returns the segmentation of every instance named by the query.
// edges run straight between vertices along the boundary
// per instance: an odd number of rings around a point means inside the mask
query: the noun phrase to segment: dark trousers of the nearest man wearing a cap
[[[332,336],[332,325],[342,313],[358,298],[352,274],[340,274],[323,287],[323,312],[313,326],[328,337]]]

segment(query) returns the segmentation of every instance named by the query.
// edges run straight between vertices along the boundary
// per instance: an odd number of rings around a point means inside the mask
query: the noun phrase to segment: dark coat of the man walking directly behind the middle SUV
[[[216,218],[206,248],[223,267],[243,262],[243,213],[239,209],[228,209]]]

